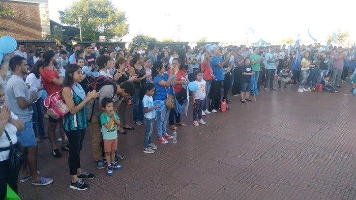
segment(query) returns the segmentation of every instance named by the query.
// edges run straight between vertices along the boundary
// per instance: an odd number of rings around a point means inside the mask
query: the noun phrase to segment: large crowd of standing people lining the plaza
[[[17,192],[17,180],[32,181],[34,185],[48,185],[53,179],[40,176],[37,170],[37,143],[49,139],[51,152],[61,158],[61,151],[69,151],[70,188],[85,190],[89,186],[83,179],[94,174],[84,172],[80,166],[83,139],[90,127],[93,161],[97,168],[121,169],[118,160],[124,156],[117,151],[117,134],[127,134],[136,126],[145,126],[143,152],[155,153],[154,140],[168,144],[173,136],[167,130],[178,131],[182,122],[182,105],[191,97],[193,126],[204,125],[202,116],[216,113],[221,99],[240,96],[240,102],[251,102],[253,81],[258,91],[287,89],[288,84],[299,85],[298,93],[315,90],[338,92],[341,84],[353,81],[356,87],[355,49],[314,44],[309,46],[246,47],[217,45],[182,48],[156,43],[142,47],[113,49],[96,47],[95,42],[80,49],[73,45],[71,52],[62,45],[55,50],[25,51],[25,45],[12,54],[6,54],[0,69],[0,194],[6,185]],[[351,71],[351,76],[350,72]],[[87,90],[87,85],[98,76],[110,78],[114,83],[103,85],[98,91]],[[188,84],[197,89],[187,93]],[[263,85],[263,90],[260,89]],[[281,86],[282,85],[282,86]],[[222,94],[223,91],[223,94]],[[43,100],[60,92],[69,107],[64,118],[46,117]],[[174,108],[167,102],[173,96]],[[173,100],[174,101],[174,100]],[[172,103],[172,102],[170,102]],[[128,108],[132,107],[132,116]],[[44,119],[48,118],[48,129]],[[156,139],[152,139],[156,121]],[[60,150],[55,136],[60,128]],[[20,169],[8,167],[9,140],[19,144],[25,153]],[[4,196],[0,196],[2,199]]]

